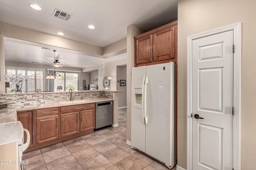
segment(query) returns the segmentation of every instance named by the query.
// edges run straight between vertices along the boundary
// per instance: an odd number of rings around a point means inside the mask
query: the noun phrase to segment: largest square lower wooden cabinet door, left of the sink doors
[[[59,138],[58,115],[36,118],[36,143]]]

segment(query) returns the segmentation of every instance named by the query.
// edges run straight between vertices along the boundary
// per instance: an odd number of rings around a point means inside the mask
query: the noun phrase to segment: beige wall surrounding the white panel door
[[[187,37],[242,22],[241,170],[256,160],[256,1],[178,1],[178,166],[186,169]]]

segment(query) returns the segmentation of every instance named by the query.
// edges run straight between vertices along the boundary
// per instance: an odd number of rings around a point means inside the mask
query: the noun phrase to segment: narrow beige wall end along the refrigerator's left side
[[[127,27],[127,141],[131,141],[131,93],[132,93],[132,67],[134,66],[134,39],[136,35],[144,33],[135,25]]]

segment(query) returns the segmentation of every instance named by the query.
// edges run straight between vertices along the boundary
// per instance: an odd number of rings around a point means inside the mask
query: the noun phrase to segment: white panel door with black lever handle
[[[192,41],[193,170],[233,167],[232,47],[233,31]]]

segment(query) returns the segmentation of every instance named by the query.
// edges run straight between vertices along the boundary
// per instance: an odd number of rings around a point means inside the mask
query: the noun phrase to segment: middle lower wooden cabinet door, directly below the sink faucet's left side
[[[78,115],[78,111],[60,115],[60,137],[80,132],[80,121]]]

